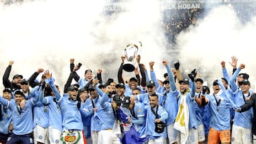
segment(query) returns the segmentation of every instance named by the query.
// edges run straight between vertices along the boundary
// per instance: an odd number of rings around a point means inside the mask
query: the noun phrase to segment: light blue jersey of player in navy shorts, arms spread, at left
[[[1,104],[4,104],[8,109],[11,110],[12,123],[14,126],[13,133],[16,135],[25,135],[33,131],[33,116],[32,116],[32,106],[34,102],[38,101],[36,99],[30,99],[26,101],[26,106],[23,109],[18,109],[14,99],[8,101],[0,96]]]

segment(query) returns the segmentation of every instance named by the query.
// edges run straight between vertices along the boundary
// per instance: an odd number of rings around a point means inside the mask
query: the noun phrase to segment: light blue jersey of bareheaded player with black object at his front
[[[154,107],[154,111],[156,111],[156,107]],[[159,106],[157,111],[157,116],[161,119],[162,122],[166,123],[166,118],[168,118],[168,113],[164,109],[163,106]],[[167,138],[166,128],[164,128],[163,133],[155,132],[155,120],[156,116],[151,111],[151,106],[146,106],[146,135],[149,135],[149,139],[157,139],[157,138]]]

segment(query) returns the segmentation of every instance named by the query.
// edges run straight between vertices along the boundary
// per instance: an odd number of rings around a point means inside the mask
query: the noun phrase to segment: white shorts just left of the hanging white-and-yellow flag
[[[166,129],[169,143],[175,143],[181,140],[181,132],[174,128],[174,123],[166,126]]]

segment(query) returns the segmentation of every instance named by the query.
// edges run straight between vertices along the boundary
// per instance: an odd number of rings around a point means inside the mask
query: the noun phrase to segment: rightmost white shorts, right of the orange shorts
[[[252,144],[252,129],[242,128],[240,126],[232,126],[231,143]]]

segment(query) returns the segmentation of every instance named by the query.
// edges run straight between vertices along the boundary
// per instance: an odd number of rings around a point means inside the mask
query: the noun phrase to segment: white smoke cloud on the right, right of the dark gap
[[[232,75],[231,57],[238,57],[239,65],[245,64],[241,72],[250,74],[250,82],[255,82],[253,67],[255,58],[256,17],[242,23],[233,6],[218,6],[178,35],[179,57],[188,72],[200,69],[202,78],[207,78],[209,86],[214,79],[223,77],[220,61],[225,61],[226,68]],[[208,74],[208,75],[206,75]]]

